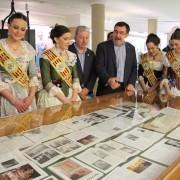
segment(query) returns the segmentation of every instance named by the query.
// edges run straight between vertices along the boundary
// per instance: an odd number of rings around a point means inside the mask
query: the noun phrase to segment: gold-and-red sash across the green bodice
[[[43,54],[47,56],[49,62],[54,67],[59,76],[66,82],[66,84],[70,88],[72,88],[71,71],[65,63],[65,60],[57,56],[51,49],[46,50]]]

